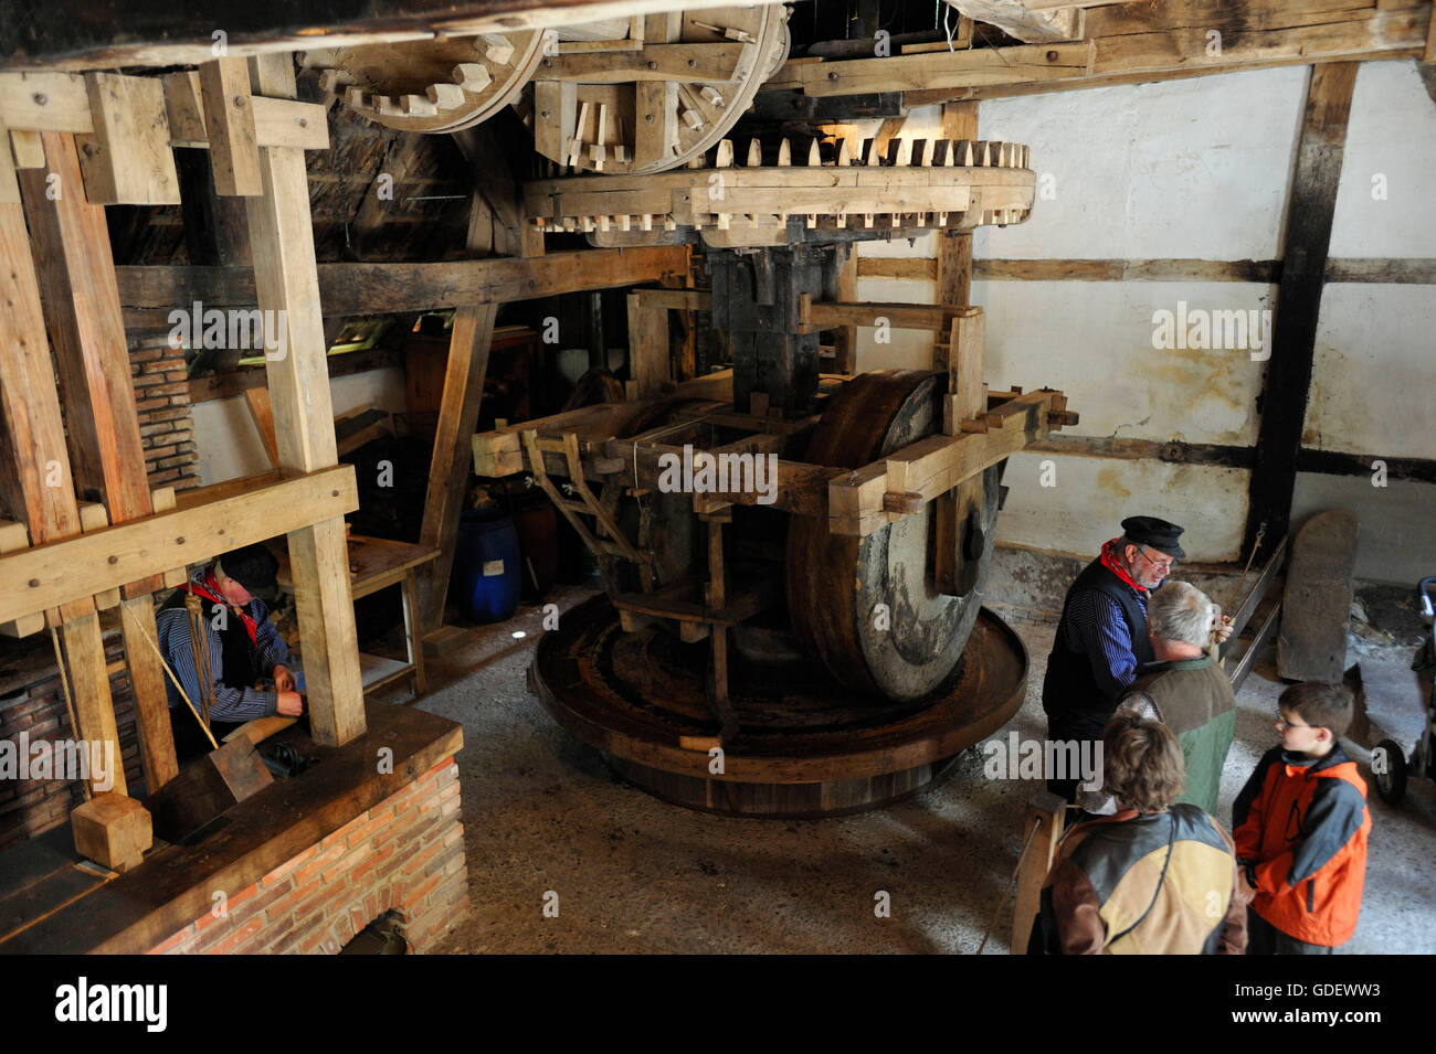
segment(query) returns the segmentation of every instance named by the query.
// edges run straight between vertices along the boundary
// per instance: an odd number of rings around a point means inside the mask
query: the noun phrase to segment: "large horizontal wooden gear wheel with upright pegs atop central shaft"
[[[1010,142],[895,139],[880,156],[872,141],[853,151],[846,141],[784,139],[770,151],[754,139],[747,163],[737,159],[725,139],[705,168],[540,179],[524,185],[524,211],[546,231],[592,232],[599,245],[694,228],[708,245],[735,248],[790,244],[790,219],[875,238],[1018,224],[1037,192],[1027,148]]]

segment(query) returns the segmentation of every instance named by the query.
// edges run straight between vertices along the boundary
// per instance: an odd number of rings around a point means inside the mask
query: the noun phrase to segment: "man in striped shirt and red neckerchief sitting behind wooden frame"
[[[274,597],[277,569],[274,554],[246,545],[191,572],[155,614],[159,648],[217,741],[256,717],[304,711],[303,674],[260,599]],[[198,647],[201,638],[204,647]],[[184,760],[211,750],[174,683],[167,688],[177,756]]]

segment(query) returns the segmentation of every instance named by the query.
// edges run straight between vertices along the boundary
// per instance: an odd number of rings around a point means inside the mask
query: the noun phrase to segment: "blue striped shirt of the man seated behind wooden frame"
[[[190,574],[190,581],[204,585],[205,568]],[[274,675],[277,664],[289,664],[289,645],[279,635],[279,630],[269,621],[269,607],[258,597],[253,598],[246,608],[254,619],[254,644],[258,648],[260,668],[266,677]],[[234,617],[233,614],[230,615]],[[159,637],[159,651],[174,671],[185,694],[194,703],[195,710],[202,711],[200,701],[200,674],[194,668],[194,647],[191,645],[190,611],[185,607],[165,608],[155,612],[155,630]],[[243,632],[243,627],[240,628]],[[211,721],[250,721],[256,717],[267,717],[276,713],[277,694],[257,688],[234,688],[223,684],[220,677],[224,673],[224,648],[220,644],[220,632],[210,619],[204,619],[204,635],[210,651],[210,675],[214,678],[214,701],[210,704]],[[184,700],[175,691],[174,681],[165,678],[165,691],[169,695],[169,707],[184,707]]]

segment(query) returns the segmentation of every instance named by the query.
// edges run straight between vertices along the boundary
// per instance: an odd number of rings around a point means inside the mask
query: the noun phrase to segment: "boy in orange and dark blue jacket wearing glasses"
[[[1307,681],[1277,703],[1268,750],[1232,807],[1248,955],[1330,955],[1356,932],[1371,815],[1366,782],[1337,741],[1351,694]]]

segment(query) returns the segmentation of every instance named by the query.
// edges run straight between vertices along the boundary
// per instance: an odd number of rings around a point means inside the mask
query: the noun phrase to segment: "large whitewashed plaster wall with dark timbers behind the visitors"
[[[1305,67],[1251,70],[1166,83],[995,99],[981,103],[985,139],[1028,143],[1045,185],[1025,224],[979,228],[975,258],[1272,260],[1295,163]],[[941,112],[918,110],[905,135],[935,135]],[[854,135],[872,135],[864,122]],[[1364,63],[1353,99],[1334,217],[1334,257],[1436,257],[1436,106],[1414,63]],[[1371,178],[1386,178],[1373,201]],[[864,257],[932,257],[936,238],[870,242]],[[872,301],[932,303],[932,281],[859,281]],[[975,281],[987,313],[992,387],[1063,389],[1081,424],[1066,435],[1251,446],[1265,364],[1245,350],[1155,350],[1153,313],[1262,310],[1272,285],[1246,283]],[[860,369],[922,367],[925,334],[890,344],[859,331]],[[1436,374],[1436,290],[1328,285],[1317,338],[1308,446],[1390,457],[1436,457],[1427,427]],[[1261,351],[1256,353],[1261,356]],[[1057,485],[1040,486],[1051,460]],[[1248,473],[1152,460],[1053,455],[1011,459],[1001,541],[1090,554],[1123,516],[1153,513],[1188,528],[1193,559],[1235,559],[1246,518]],[[1366,496],[1346,480],[1298,478],[1297,513],[1351,506]],[[1391,516],[1370,516],[1357,574],[1410,581],[1436,556],[1436,488],[1393,485]],[[1351,506],[1354,508],[1354,506]],[[1357,509],[1363,512],[1363,509]],[[1414,545],[1413,545],[1414,542]],[[1413,551],[1414,549],[1414,551]],[[1404,555],[1403,555],[1404,554]]]

